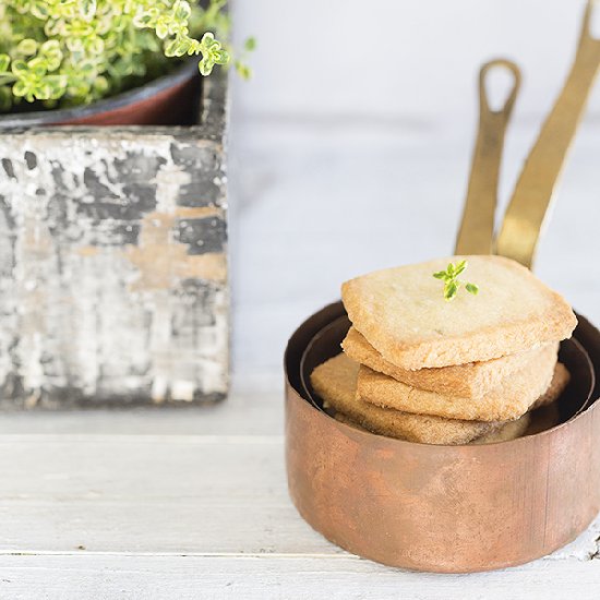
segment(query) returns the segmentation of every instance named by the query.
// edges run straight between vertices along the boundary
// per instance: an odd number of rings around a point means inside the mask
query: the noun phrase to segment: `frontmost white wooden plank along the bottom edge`
[[[0,595],[14,600],[596,600],[600,561],[538,562],[490,574],[427,575],[343,555],[0,555]]]

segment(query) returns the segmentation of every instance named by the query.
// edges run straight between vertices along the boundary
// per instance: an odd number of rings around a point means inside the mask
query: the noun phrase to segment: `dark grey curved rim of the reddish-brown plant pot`
[[[125,106],[146,100],[152,96],[175,87],[188,80],[191,80],[197,73],[197,60],[189,59],[177,69],[156,77],[147,83],[117,94],[96,100],[88,105],[76,106],[73,108],[59,108],[56,110],[36,110],[35,112],[8,112],[0,113],[0,130],[8,128],[47,125],[63,123],[75,119],[85,119],[100,112],[109,112],[123,108]]]

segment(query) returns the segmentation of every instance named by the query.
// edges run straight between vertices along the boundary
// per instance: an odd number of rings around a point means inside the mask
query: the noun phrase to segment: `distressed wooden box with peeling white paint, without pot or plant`
[[[226,96],[205,80],[191,128],[0,133],[0,406],[225,397]]]

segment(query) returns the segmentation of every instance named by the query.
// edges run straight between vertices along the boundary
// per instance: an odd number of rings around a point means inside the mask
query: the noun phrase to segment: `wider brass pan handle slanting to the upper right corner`
[[[598,68],[600,39],[591,36],[589,0],[575,62],[524,165],[496,240],[497,254],[531,267],[566,154],[585,111]]]

